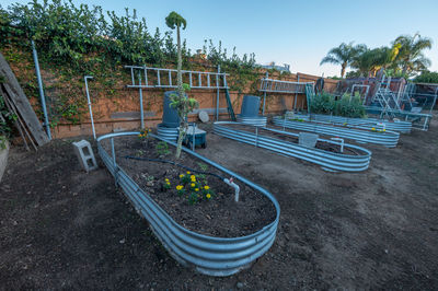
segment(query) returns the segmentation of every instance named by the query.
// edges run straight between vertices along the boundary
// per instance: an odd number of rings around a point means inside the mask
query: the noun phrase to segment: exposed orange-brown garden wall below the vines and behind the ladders
[[[261,73],[261,78],[264,75],[265,73]],[[232,75],[230,75],[230,79],[231,78]],[[273,74],[270,78],[276,79],[278,78],[278,74]],[[300,82],[315,82],[320,77],[304,73],[281,75],[281,80],[299,80]],[[328,90],[334,89],[336,83],[336,80],[325,79],[325,88]],[[257,88],[260,86],[260,81],[257,81],[256,85]],[[104,97],[104,93],[99,92],[99,89],[90,89],[90,95],[93,98],[93,117],[97,135],[136,129],[140,126],[139,90],[123,86],[115,90],[116,97]],[[154,127],[161,123],[163,112],[162,100],[165,91],[166,90],[162,89],[147,89],[142,91],[146,126]],[[84,90],[79,92],[79,94],[82,94],[85,98]],[[249,88],[245,88],[241,93],[238,91],[230,91],[230,98],[235,114],[240,113],[243,95],[246,94],[254,94],[254,92]],[[99,97],[96,97],[97,95]],[[216,118],[216,90],[192,90],[188,92],[188,95],[195,97],[199,102],[199,109],[206,110],[210,115],[210,119]],[[263,93],[257,92],[256,95],[263,98]],[[296,94],[267,94],[265,113],[267,115],[275,115],[283,113],[286,109],[292,109],[295,96]],[[220,90],[219,93],[219,119],[227,120],[229,116],[223,90]],[[304,94],[297,94],[297,108],[307,108]],[[196,113],[198,110],[196,110]],[[197,120],[197,115],[189,115],[189,120]],[[84,119],[80,124],[73,125],[61,123],[53,130],[55,138],[90,135],[91,132],[91,121],[88,113],[84,114]]]

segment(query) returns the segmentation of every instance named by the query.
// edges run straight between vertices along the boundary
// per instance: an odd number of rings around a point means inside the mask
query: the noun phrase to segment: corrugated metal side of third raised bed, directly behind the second
[[[372,131],[364,127],[341,127],[332,124],[321,124],[312,121],[293,121],[285,120],[285,118],[274,117],[274,125],[286,127],[295,130],[314,132],[324,136],[333,136],[355,140],[360,143],[379,144],[387,148],[395,148],[400,133],[385,130],[384,132]],[[376,128],[379,130],[379,128]]]

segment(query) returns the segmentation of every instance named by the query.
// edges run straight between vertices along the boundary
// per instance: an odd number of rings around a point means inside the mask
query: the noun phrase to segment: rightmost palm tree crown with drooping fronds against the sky
[[[402,68],[403,74],[425,70],[430,66],[430,60],[423,54],[423,50],[431,48],[430,38],[422,37],[418,33],[414,36],[401,35],[393,44],[400,46],[395,62]]]

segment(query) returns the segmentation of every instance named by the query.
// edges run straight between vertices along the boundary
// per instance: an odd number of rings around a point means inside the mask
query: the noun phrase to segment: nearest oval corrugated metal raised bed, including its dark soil
[[[228,187],[228,194],[218,187],[217,191],[212,193],[214,199],[201,200],[198,203],[191,205],[185,195],[178,196],[176,194],[176,190],[174,190],[175,184],[173,184],[173,181],[182,184],[178,181],[182,177],[177,173],[186,173],[187,168],[182,170],[178,166],[161,162],[157,162],[160,163],[157,166],[153,161],[141,160],[142,156],[147,156],[145,159],[149,160],[154,159],[151,148],[154,144],[157,146],[159,141],[162,142],[161,146],[165,143],[172,146],[172,148],[176,144],[150,135],[149,146],[145,147],[143,142],[137,139],[138,135],[139,132],[120,132],[102,136],[97,138],[99,154],[114,176],[117,185],[122,187],[136,210],[149,221],[152,231],[172,257],[182,265],[194,267],[197,271],[206,275],[229,276],[250,266],[252,261],[269,249],[275,241],[280,212],[278,201],[270,193],[239,174],[183,148],[182,160],[178,160],[178,162],[182,161],[182,163],[188,163],[192,166],[200,162],[204,165],[199,164],[199,167],[205,168],[205,165],[208,165],[210,173],[218,176],[231,176],[234,181],[238,181],[241,187],[240,201],[237,203],[232,201],[234,189],[224,185],[224,187]],[[131,140],[127,141],[124,138],[130,138]],[[137,146],[132,147],[132,143]],[[127,151],[129,152],[129,149],[137,150],[136,152],[131,151],[131,154],[134,154],[134,158],[139,158],[140,161],[125,159],[128,156],[124,156],[124,154]],[[157,150],[152,149],[152,151]],[[173,154],[169,155],[160,151],[157,154],[161,160],[163,160],[163,155],[166,156],[165,159],[173,156]],[[165,177],[169,177],[166,179],[164,179],[164,176],[162,177],[164,184],[161,184],[161,190],[157,190],[157,185],[161,182],[150,179],[150,176],[148,176],[153,171],[161,171]],[[145,174],[142,172],[148,174],[142,175]],[[176,177],[174,177],[175,174]],[[181,175],[186,177],[188,174]],[[201,174],[196,175],[197,178],[201,178]],[[207,177],[206,179],[209,178]],[[151,181],[154,181],[157,185],[149,184],[151,186],[149,188],[148,186],[142,187],[139,185]],[[169,184],[173,184],[171,189],[163,189],[168,183],[166,181],[169,181]],[[208,183],[210,184],[210,182]],[[215,185],[215,183],[217,182],[211,182],[211,185]],[[222,202],[228,205],[220,207]],[[217,207],[218,205],[219,207]],[[193,211],[185,211],[187,207]],[[215,210],[212,207],[217,209]],[[203,216],[198,216],[204,211],[203,209],[208,209],[212,212],[206,211]],[[232,213],[233,210],[240,213]],[[221,211],[222,216],[220,217]],[[251,221],[245,226],[242,225],[245,219],[233,221],[233,214],[247,218],[256,217],[257,221]],[[228,218],[231,218],[231,220]],[[204,223],[205,221],[207,223]],[[222,225],[217,225],[216,221],[222,223]],[[227,228],[223,226],[223,223],[227,224]],[[235,229],[233,223],[237,223],[239,228]],[[208,224],[211,224],[211,228]],[[241,235],[235,235],[235,233]]]

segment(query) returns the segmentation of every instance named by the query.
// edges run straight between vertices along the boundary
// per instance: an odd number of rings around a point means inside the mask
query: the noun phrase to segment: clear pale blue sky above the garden
[[[0,0],[2,7],[25,1]],[[148,27],[164,32],[165,16],[176,11],[187,21],[182,33],[194,53],[204,39],[222,42],[237,53],[255,54],[258,63],[288,63],[292,72],[325,77],[339,75],[341,67],[320,66],[327,51],[341,43],[355,42],[368,47],[388,46],[399,35],[419,33],[433,39],[425,51],[429,68],[438,71],[438,0],[73,0],[125,13],[136,9]]]

